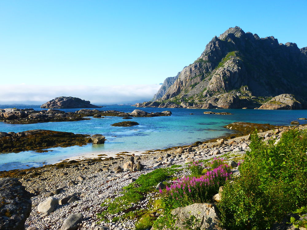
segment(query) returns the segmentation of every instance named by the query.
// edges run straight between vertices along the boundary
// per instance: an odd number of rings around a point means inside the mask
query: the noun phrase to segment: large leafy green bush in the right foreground
[[[241,176],[228,181],[218,207],[229,229],[267,229],[307,204],[307,134],[285,132],[265,143],[252,135]]]

